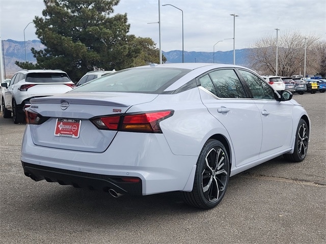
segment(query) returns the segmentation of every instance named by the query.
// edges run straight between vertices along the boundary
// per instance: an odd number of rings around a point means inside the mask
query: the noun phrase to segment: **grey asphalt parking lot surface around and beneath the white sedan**
[[[231,177],[211,210],[187,206],[178,192],[113,198],[34,182],[20,164],[25,125],[1,116],[1,242],[326,243],[326,93],[293,98],[312,123],[306,159],[279,157]]]

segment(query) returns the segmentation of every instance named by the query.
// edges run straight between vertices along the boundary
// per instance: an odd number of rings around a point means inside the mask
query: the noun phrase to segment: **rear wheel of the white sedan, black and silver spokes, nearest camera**
[[[230,162],[224,145],[209,139],[197,161],[192,192],[183,192],[184,201],[194,207],[210,209],[225,195],[230,177]]]

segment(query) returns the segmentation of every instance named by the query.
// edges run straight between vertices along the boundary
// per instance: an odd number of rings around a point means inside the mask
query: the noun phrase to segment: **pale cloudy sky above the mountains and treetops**
[[[42,0],[0,0],[2,40],[35,40],[35,16],[42,16]],[[159,3],[159,5],[158,5]],[[127,13],[130,32],[150,37],[159,47],[158,6],[160,6],[160,40],[163,51],[228,51],[247,48],[264,36],[298,31],[316,35],[326,41],[326,0],[121,0],[115,13]],[[151,23],[151,24],[148,24]],[[24,32],[24,28],[25,32]],[[227,39],[227,40],[225,40]]]

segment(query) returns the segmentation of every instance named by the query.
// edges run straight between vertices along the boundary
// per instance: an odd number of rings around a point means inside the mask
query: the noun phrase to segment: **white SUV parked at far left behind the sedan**
[[[67,73],[61,70],[20,70],[14,74],[2,97],[4,118],[13,115],[14,123],[24,123],[24,106],[30,99],[63,94],[75,87]]]

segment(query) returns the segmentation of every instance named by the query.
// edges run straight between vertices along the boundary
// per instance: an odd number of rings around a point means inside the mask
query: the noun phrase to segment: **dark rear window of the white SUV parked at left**
[[[63,83],[70,79],[66,73],[29,73],[26,82],[32,83]]]

